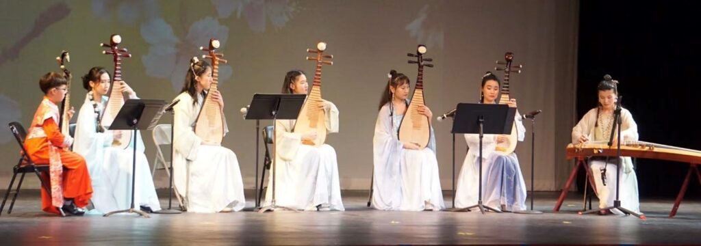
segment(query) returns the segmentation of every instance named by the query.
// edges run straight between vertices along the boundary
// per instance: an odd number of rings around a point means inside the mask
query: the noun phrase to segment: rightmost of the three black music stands
[[[482,204],[482,138],[484,134],[510,134],[516,108],[510,108],[505,104],[458,103],[456,109],[451,133],[479,134],[479,198],[475,205],[449,211],[465,212],[470,211],[471,208],[479,208],[482,215],[485,214],[485,210],[501,212]]]

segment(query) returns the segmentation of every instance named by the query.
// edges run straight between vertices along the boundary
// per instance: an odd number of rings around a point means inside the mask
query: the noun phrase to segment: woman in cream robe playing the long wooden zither
[[[617,126],[613,125],[613,111],[615,110],[616,101],[618,101],[618,89],[614,82],[606,80],[599,82],[598,89],[599,106],[589,110],[572,129],[572,143],[575,145],[589,143],[590,141],[606,143],[611,138],[611,131],[616,131]],[[621,119],[621,140],[638,140],[638,125],[635,124],[630,111],[622,108]],[[618,136],[614,136],[613,140],[613,145],[615,145],[618,142]],[[606,162],[606,157],[592,157],[589,159],[589,166],[596,184],[597,196],[599,196],[599,208],[613,206],[617,178],[616,161],[622,161],[620,166],[620,205],[623,208],[639,213],[638,179],[633,170],[633,163],[630,157],[621,157],[620,160],[617,160],[615,157],[609,158],[608,163]],[[602,178],[604,179],[602,180]],[[611,211],[600,211],[599,215],[608,215],[609,212],[617,215],[623,214],[618,209],[613,209]]]

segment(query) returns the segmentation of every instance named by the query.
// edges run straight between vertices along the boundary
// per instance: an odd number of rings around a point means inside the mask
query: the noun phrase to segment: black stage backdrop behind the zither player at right
[[[700,10],[699,1],[580,1],[578,117],[596,105],[597,83],[608,73],[620,81],[640,140],[701,150],[694,120]],[[678,162],[637,159],[641,198],[676,196],[687,170]],[[698,184],[692,177],[687,196],[699,197]]]

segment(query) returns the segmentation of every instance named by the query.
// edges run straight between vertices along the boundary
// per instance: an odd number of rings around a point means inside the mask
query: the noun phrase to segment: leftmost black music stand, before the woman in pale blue
[[[129,99],[124,103],[117,116],[114,118],[108,130],[132,130],[134,132],[134,143],[137,143],[137,130],[151,130],[158,123],[158,119],[163,115],[163,100],[149,99]],[[114,215],[120,212],[137,213],[149,218],[149,215],[142,210],[134,209],[134,188],[136,180],[136,146],[132,147],[134,155],[132,157],[132,198],[131,207],[127,210],[117,210],[104,215]]]

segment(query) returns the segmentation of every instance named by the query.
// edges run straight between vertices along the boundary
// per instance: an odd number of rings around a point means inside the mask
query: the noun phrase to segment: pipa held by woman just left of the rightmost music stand
[[[424,64],[424,61],[433,61],[430,58],[423,58],[424,53],[426,53],[426,46],[418,45],[416,55],[408,54],[409,57],[417,57],[416,61],[409,61],[409,63],[418,64],[418,75],[416,75],[414,94],[411,94],[411,102],[407,112],[404,113],[404,118],[399,128],[399,140],[402,143],[416,144],[420,149],[425,148],[430,140],[428,117],[418,112],[418,108],[425,105],[423,101],[423,67],[433,67],[432,64]]]

